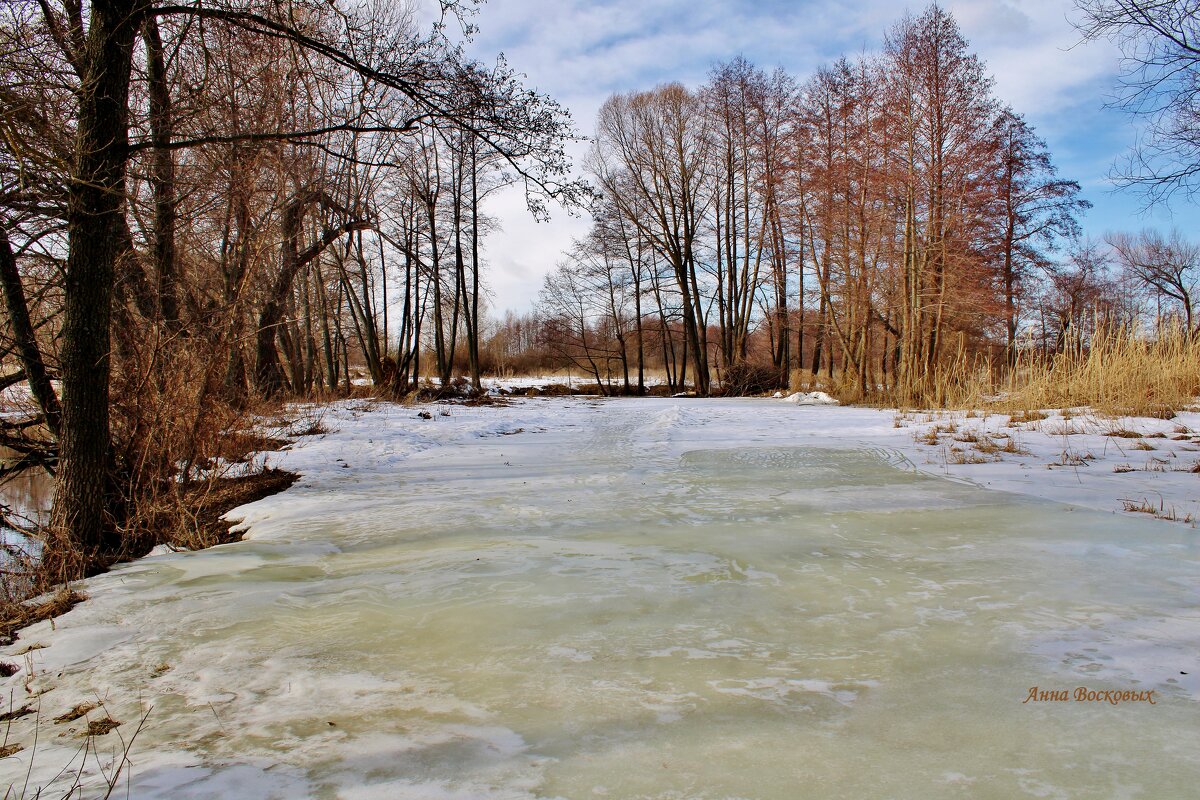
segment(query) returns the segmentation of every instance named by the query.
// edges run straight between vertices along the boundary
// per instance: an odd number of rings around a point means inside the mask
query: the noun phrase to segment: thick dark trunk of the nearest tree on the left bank
[[[77,578],[118,547],[109,498],[109,335],[125,169],[128,91],[140,4],[94,2],[67,201],[61,331],[62,428],[46,566]]]

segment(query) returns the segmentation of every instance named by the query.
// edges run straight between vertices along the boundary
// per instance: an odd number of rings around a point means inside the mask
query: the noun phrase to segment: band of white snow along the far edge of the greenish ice
[[[558,378],[496,379],[496,387],[542,387]],[[306,441],[284,453],[269,453],[274,467],[301,474],[328,468],[322,453],[358,450],[389,473],[408,456],[431,447],[505,435],[517,428],[546,431],[564,409],[581,403],[619,403],[630,414],[680,409],[697,427],[695,439],[722,446],[761,444],[769,432],[778,444],[814,447],[884,449],[912,469],[968,481],[983,488],[1055,500],[1069,506],[1158,518],[1200,522],[1200,413],[1175,419],[1111,417],[1087,409],[1048,410],[1015,416],[978,411],[895,411],[836,405],[823,392],[772,399],[686,398],[515,398],[509,408],[450,403],[403,407],[350,401],[328,407],[322,416],[337,429],[330,439]],[[800,405],[784,410],[782,404]],[[306,413],[312,416],[313,411]],[[415,410],[414,410],[415,409]],[[684,411],[685,409],[685,411]],[[430,425],[419,417],[426,410]],[[672,414],[674,411],[671,411]],[[680,416],[680,419],[683,419]],[[388,435],[371,434],[377,425]],[[700,428],[706,432],[698,432]],[[360,441],[366,432],[368,445]],[[1135,435],[1138,434],[1138,435]],[[689,439],[689,444],[694,444]],[[1154,511],[1127,511],[1129,504]]]

